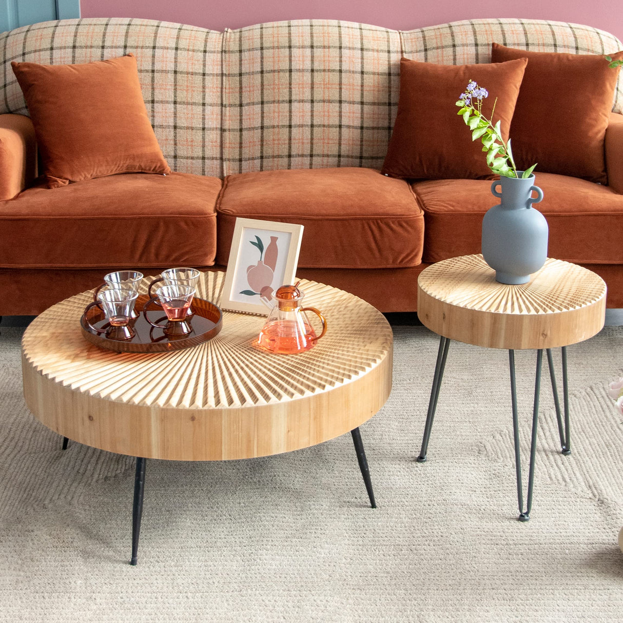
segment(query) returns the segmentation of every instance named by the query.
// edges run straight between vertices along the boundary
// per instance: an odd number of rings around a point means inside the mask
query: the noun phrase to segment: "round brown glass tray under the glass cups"
[[[82,335],[85,339],[100,348],[117,351],[119,353],[163,353],[166,351],[181,350],[197,346],[217,335],[222,328],[222,312],[219,307],[203,298],[193,298],[191,310],[193,317],[189,321],[193,331],[188,335],[171,337],[164,335],[162,329],[155,328],[143,317],[143,305],[148,302],[149,297],[139,295],[136,299],[135,310],[139,313],[138,318],[133,321],[133,328],[136,335],[130,340],[110,340],[103,333],[95,333],[87,325],[84,314],[80,317]],[[151,305],[148,312],[152,322],[158,325],[166,323],[166,315],[156,305]],[[98,307],[93,307],[88,311],[88,320],[98,329],[107,328],[106,318]]]

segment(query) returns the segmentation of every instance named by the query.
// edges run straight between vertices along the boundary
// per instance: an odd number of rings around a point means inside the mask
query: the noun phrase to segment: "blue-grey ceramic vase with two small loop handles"
[[[532,207],[543,199],[543,191],[533,185],[534,180],[531,174],[525,179],[502,177],[491,184],[491,192],[502,203],[489,209],[482,220],[482,255],[500,283],[527,283],[547,259],[548,224]],[[497,186],[502,186],[501,193]]]

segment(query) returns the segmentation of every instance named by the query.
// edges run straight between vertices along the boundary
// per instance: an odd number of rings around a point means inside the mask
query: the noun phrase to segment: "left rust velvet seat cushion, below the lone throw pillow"
[[[210,266],[221,180],[129,173],[0,201],[0,268]]]

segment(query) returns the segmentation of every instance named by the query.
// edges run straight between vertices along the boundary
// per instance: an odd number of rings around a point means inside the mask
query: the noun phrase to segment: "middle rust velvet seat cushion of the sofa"
[[[409,184],[374,169],[290,169],[227,176],[217,204],[217,264],[236,217],[305,226],[298,266],[396,268],[421,262],[422,211]]]

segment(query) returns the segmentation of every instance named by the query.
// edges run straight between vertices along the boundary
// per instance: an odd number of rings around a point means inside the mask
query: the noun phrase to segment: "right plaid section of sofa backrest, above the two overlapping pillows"
[[[612,54],[623,44],[609,32],[591,26],[538,19],[470,19],[401,32],[407,59],[442,65],[490,63],[491,44],[533,52]],[[614,112],[623,112],[623,81],[619,77]]]

